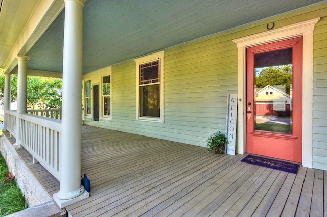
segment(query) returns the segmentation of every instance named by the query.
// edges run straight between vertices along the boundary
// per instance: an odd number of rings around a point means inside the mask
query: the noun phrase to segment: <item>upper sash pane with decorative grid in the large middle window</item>
[[[139,66],[140,84],[150,84],[160,82],[159,61],[143,64]]]

